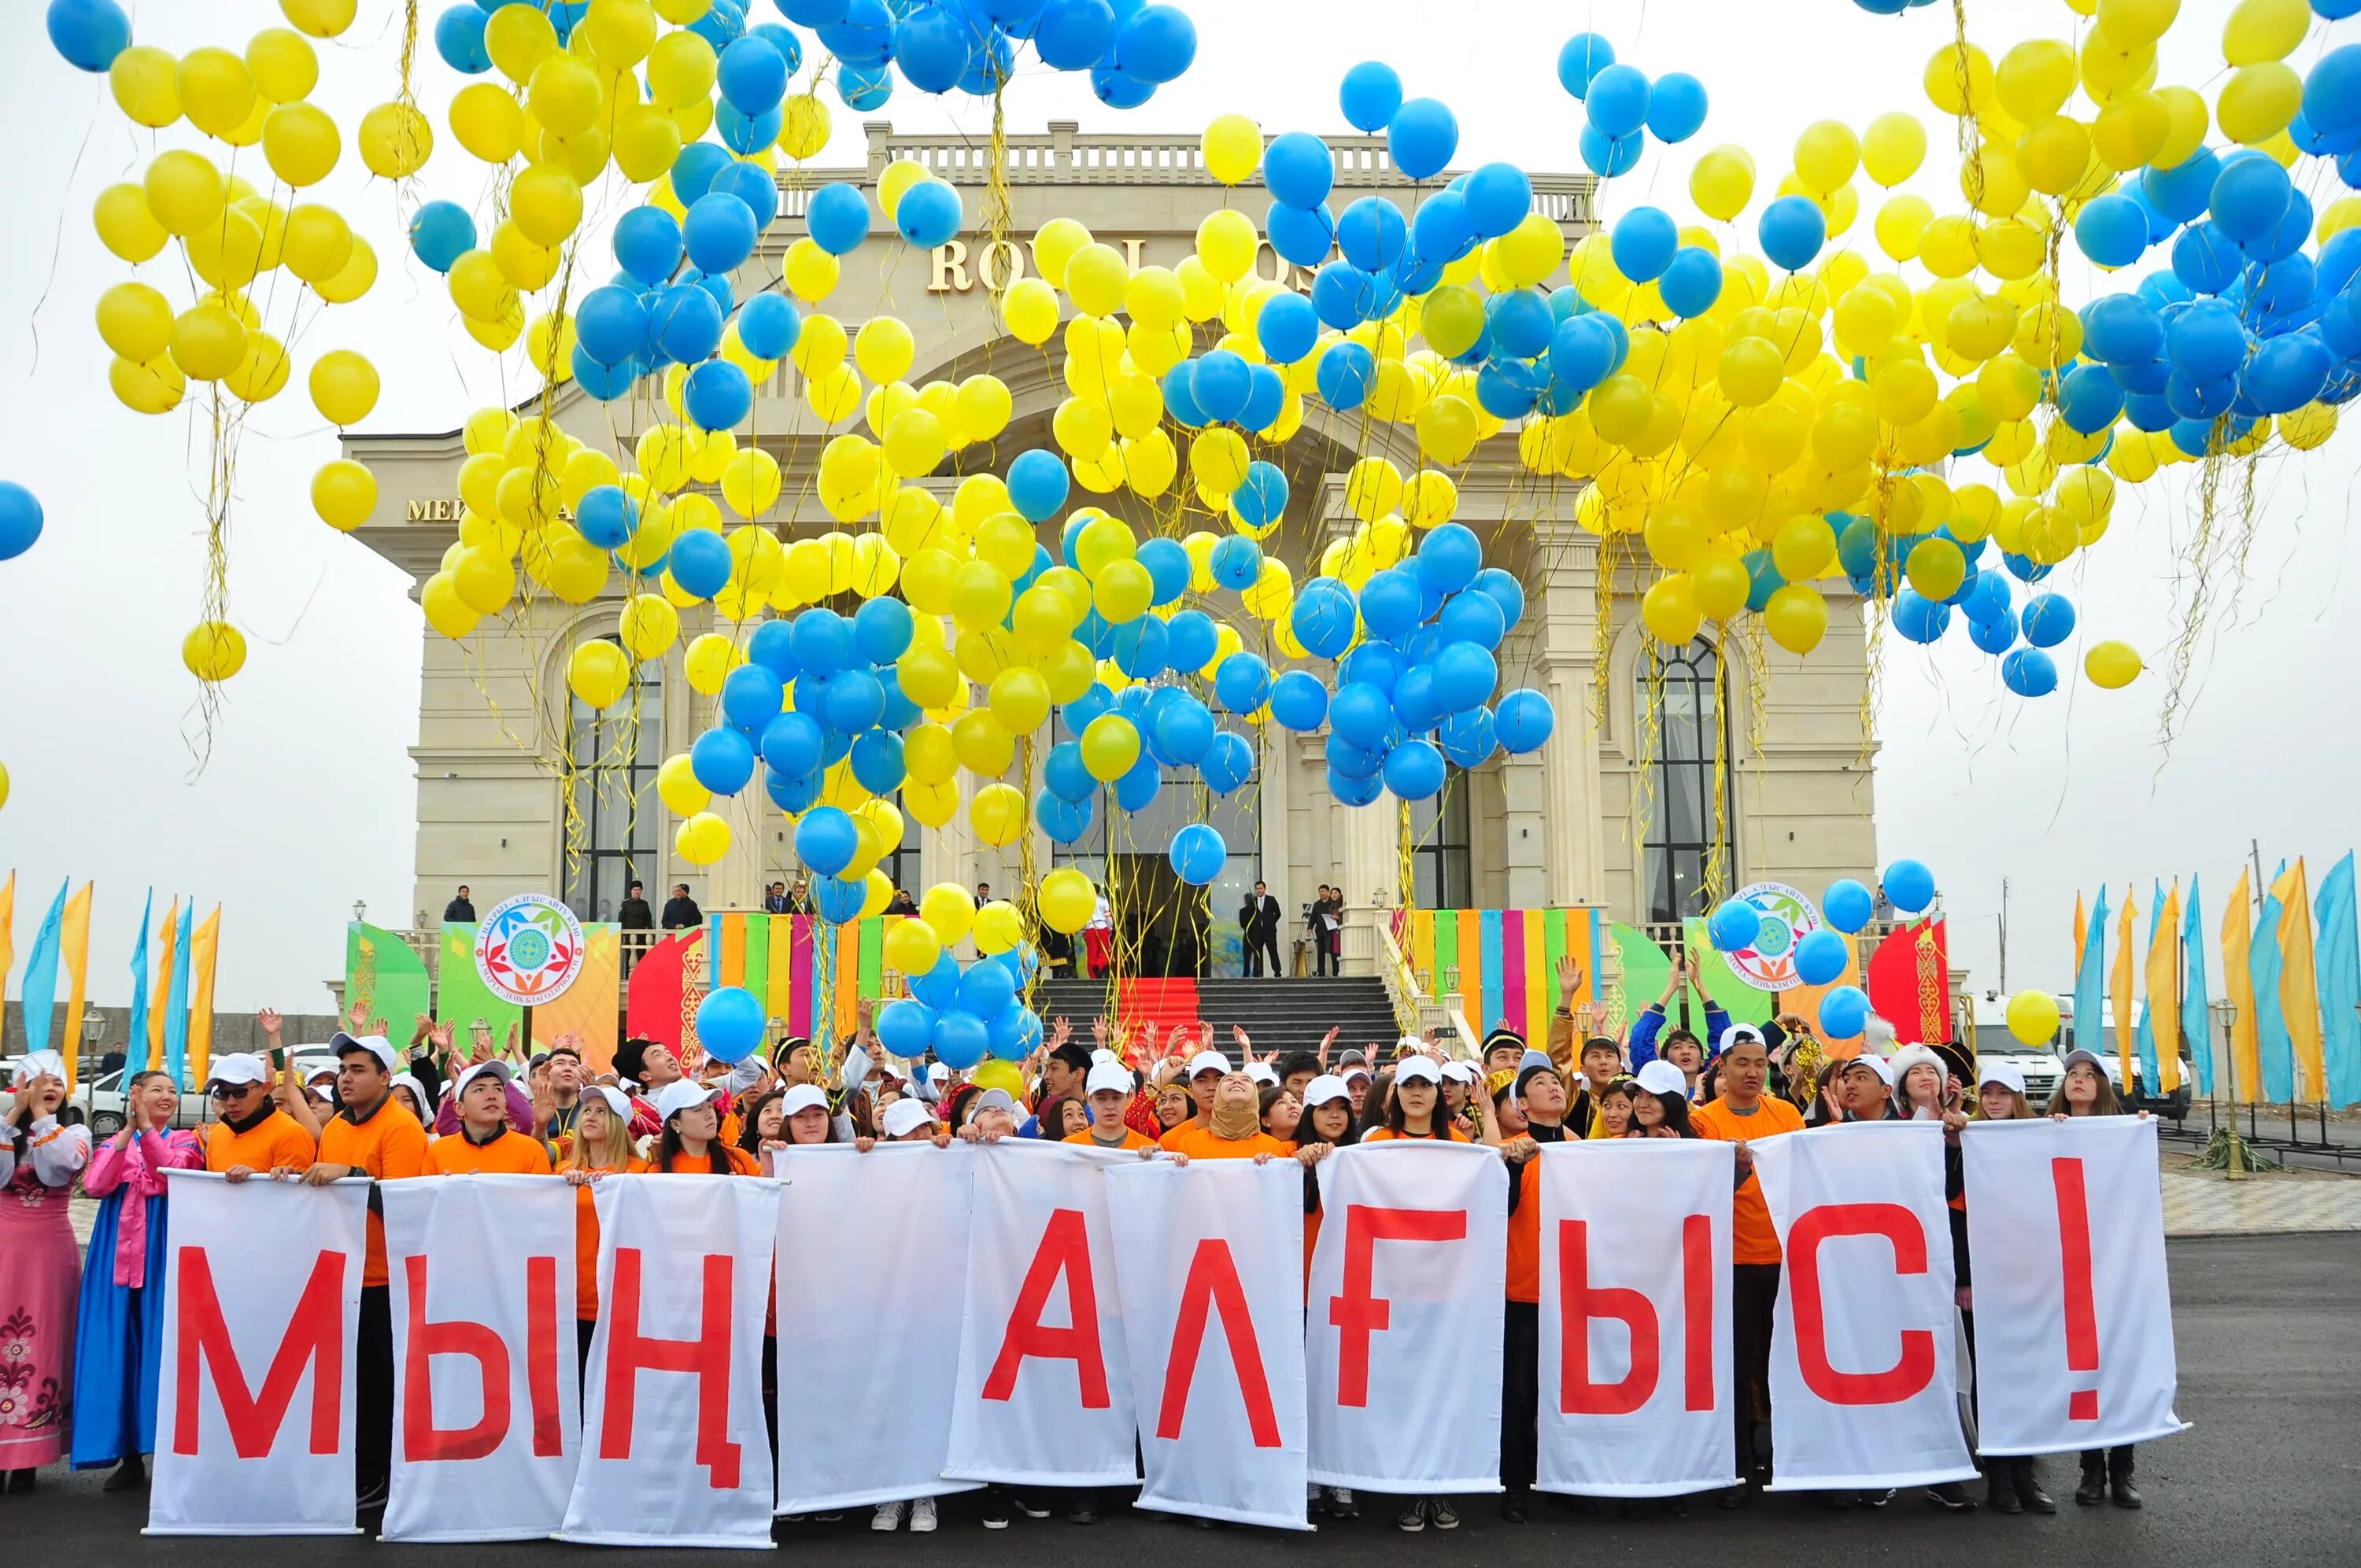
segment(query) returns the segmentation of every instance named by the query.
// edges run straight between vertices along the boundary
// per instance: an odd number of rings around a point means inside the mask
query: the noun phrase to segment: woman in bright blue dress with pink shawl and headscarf
[[[156,1452],[156,1372],[163,1360],[165,1171],[201,1171],[194,1131],[172,1131],[179,1084],[135,1072],[123,1096],[130,1124],[99,1143],[83,1193],[104,1200],[83,1261],[73,1341],[73,1469],[113,1464],[106,1490],[146,1481]]]

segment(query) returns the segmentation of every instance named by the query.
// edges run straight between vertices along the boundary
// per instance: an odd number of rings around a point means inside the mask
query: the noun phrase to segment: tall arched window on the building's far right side
[[[1662,680],[1650,680],[1648,659],[1639,661],[1636,711],[1655,713],[1655,746],[1648,751],[1648,836],[1641,867],[1641,919],[1679,921],[1705,914],[1705,874],[1714,855],[1714,767],[1728,753],[1728,727],[1714,701],[1714,645],[1702,638],[1662,654]],[[1646,720],[1643,720],[1646,723]],[[1735,869],[1731,857],[1731,812],[1724,796],[1721,869],[1724,881]]]

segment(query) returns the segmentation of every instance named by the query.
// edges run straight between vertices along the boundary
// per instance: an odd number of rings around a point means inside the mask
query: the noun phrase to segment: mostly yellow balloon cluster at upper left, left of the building
[[[375,283],[368,241],[335,208],[305,196],[345,151],[345,130],[312,102],[312,40],[352,26],[354,0],[281,0],[281,12],[290,26],[262,28],[243,52],[205,45],[175,59],[132,43],[116,0],[50,0],[50,43],[66,64],[104,73],[125,118],[151,132],[179,123],[196,132],[196,146],[165,146],[137,179],[99,191],[92,213],[116,257],[137,267],[170,250],[172,276],[163,281],[189,286],[184,302],[137,279],[99,295],[99,340],[113,354],[106,380],[135,413],[172,413],[189,383],[248,406],[279,397],[293,375],[288,338],[302,295],[349,305]],[[354,142],[368,172],[401,179],[425,163],[432,130],[408,104],[387,102],[359,118]],[[262,149],[288,201],[224,170],[246,146]],[[300,288],[274,288],[279,272]],[[264,319],[272,300],[283,300],[281,321]],[[307,390],[321,418],[354,425],[378,404],[378,371],[352,349],[328,349],[312,361]],[[212,420],[217,465],[227,463],[227,439],[222,420]],[[312,479],[312,503],[331,527],[357,529],[375,510],[375,477],[361,463],[326,463]],[[227,621],[203,621],[182,642],[182,664],[198,680],[229,680],[246,664],[246,638]]]

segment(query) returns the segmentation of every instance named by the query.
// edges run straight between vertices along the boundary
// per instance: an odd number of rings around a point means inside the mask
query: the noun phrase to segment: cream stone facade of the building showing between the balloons
[[[1138,139],[1155,170],[1081,168],[1086,139],[1070,128],[1051,137],[1018,139],[1020,146],[1055,149],[1070,158],[1070,177],[1055,184],[1011,187],[1011,234],[1029,236],[1053,215],[1079,215],[1098,239],[1124,246],[1138,241],[1138,260],[1173,264],[1192,248],[1197,222],[1225,198],[1261,215],[1261,189],[1223,196],[1202,177],[1171,172],[1176,149],[1192,139]],[[1107,139],[1100,139],[1107,142]],[[935,151],[895,139],[871,128],[871,168],[885,156],[926,156]],[[1036,156],[1032,151],[1022,156]],[[1039,153],[1051,156],[1051,153]],[[1103,153],[1100,153],[1103,156]],[[812,179],[855,177],[862,170],[822,172]],[[966,179],[951,170],[954,182]],[[1369,182],[1369,175],[1339,175],[1339,187]],[[1572,189],[1568,177],[1542,177],[1537,189]],[[963,184],[968,198],[970,281],[982,191]],[[1587,189],[1587,187],[1582,187]],[[1561,222],[1568,239],[1587,231],[1577,208],[1587,196],[1561,198]],[[786,217],[772,227],[758,255],[734,279],[739,298],[777,281],[786,243],[800,234],[800,191],[786,191]],[[1261,260],[1265,276],[1275,257]],[[992,451],[968,451],[961,465],[1006,470],[1018,451],[1048,442],[1048,416],[1065,397],[1051,354],[1001,338],[992,319],[989,293],[930,290],[937,272],[949,272],[942,257],[921,257],[892,239],[876,220],[874,236],[845,257],[843,281],[826,307],[848,328],[874,314],[902,316],[918,338],[918,357],[909,380],[961,378],[992,371],[1008,383],[1015,416]],[[1029,267],[1027,267],[1029,272]],[[1303,283],[1301,274],[1294,279]],[[1062,359],[1062,357],[1060,357]],[[560,390],[548,409],[557,423],[586,444],[604,446],[626,458],[630,442],[656,423],[656,392],[642,383],[633,397],[597,404],[578,387]],[[527,411],[543,404],[529,404]],[[1317,567],[1320,545],[1350,529],[1343,512],[1341,470],[1362,451],[1386,451],[1405,470],[1417,465],[1417,446],[1402,427],[1362,430],[1360,416],[1327,416],[1317,406],[1306,430],[1273,453],[1296,472],[1287,522],[1265,543],[1296,571],[1296,581]],[[1325,430],[1334,425],[1334,432]],[[852,427],[852,425],[845,425]],[[803,399],[800,375],[781,366],[779,375],[758,387],[756,409],[739,442],[758,442],[779,458],[786,475],[779,505],[763,522],[781,536],[810,536],[836,524],[810,494],[819,446],[845,427],[819,427]],[[378,475],[378,510],[359,531],[361,541],[425,581],[456,538],[456,522],[411,520],[411,503],[458,494],[458,465],[465,458],[458,432],[354,437],[347,451]],[[956,479],[928,479],[928,489],[949,496]],[[1185,486],[1185,477],[1180,482]],[[1556,706],[1558,727],[1539,758],[1495,758],[1466,784],[1471,801],[1471,871],[1478,904],[1608,902],[1617,916],[1634,919],[1634,878],[1639,855],[1629,843],[1629,803],[1634,777],[1634,682],[1639,656],[1636,600],[1613,600],[1613,635],[1608,647],[1608,706],[1596,732],[1589,725],[1591,673],[1598,659],[1596,638],[1596,541],[1575,529],[1572,491],[1556,482],[1535,482],[1516,465],[1513,432],[1478,451],[1459,475],[1459,520],[1473,527],[1487,557],[1516,571],[1528,593],[1523,623],[1502,647],[1504,685],[1542,687]],[[1178,486],[1176,486],[1178,489]],[[1563,494],[1561,494],[1563,491]],[[1150,508],[1133,496],[1086,496],[1131,522],[1173,531],[1176,512],[1169,496]],[[737,517],[727,517],[737,524]],[[1206,527],[1202,515],[1178,520],[1178,527]],[[874,527],[874,524],[862,524]],[[1214,524],[1218,527],[1218,524]],[[1055,529],[1041,541],[1055,550]],[[619,595],[609,593],[588,607],[567,607],[550,595],[519,612],[512,626],[486,626],[465,642],[425,633],[420,654],[420,725],[413,758],[418,763],[418,860],[416,909],[423,923],[442,914],[444,900],[460,881],[475,890],[479,909],[510,893],[560,890],[564,886],[567,827],[560,803],[557,758],[564,746],[564,652],[583,638],[614,631]],[[1754,744],[1754,716],[1742,692],[1742,673],[1731,673],[1733,732],[1733,817],[1738,841],[1735,881],[1780,878],[1816,893],[1834,876],[1865,876],[1875,864],[1870,827],[1870,777],[1863,765],[1860,690],[1863,638],[1858,616],[1842,602],[1830,623],[1827,642],[1811,656],[1794,659],[1771,649],[1771,690],[1761,708],[1761,737]],[[666,753],[685,751],[711,723],[711,701],[694,697],[682,680],[680,647],[713,628],[713,612],[682,612],[680,645],[663,656]],[[725,623],[727,626],[727,623]],[[1400,897],[1398,852],[1393,841],[1391,798],[1367,810],[1341,810],[1329,801],[1322,760],[1322,734],[1289,737],[1273,730],[1263,763],[1263,876],[1273,881],[1287,909],[1310,900],[1317,883],[1336,883],[1350,904],[1393,902]],[[1015,782],[1015,779],[1013,779]],[[673,881],[687,881],[706,907],[746,907],[760,900],[767,881],[791,876],[793,852],[786,824],[770,805],[760,784],[734,803],[720,803],[732,817],[737,843],[720,864],[694,869],[671,850],[671,819],[659,838],[659,867],[649,869],[652,897]],[[916,827],[911,829],[916,831]],[[1048,843],[1034,836],[1034,864],[1048,867]],[[923,834],[921,886],[933,881],[992,881],[1008,890],[1018,881],[1020,850],[975,845],[963,817],[940,834]]]

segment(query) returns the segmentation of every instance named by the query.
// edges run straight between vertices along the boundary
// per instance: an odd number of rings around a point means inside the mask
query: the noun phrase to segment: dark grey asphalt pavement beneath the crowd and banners
[[[1938,1511],[1905,1492],[1882,1511],[1832,1514],[1809,1495],[1759,1497],[1726,1514],[1712,1497],[1686,1516],[1650,1511],[1624,1521],[1615,1504],[1582,1516],[1539,1500],[1532,1523],[1506,1525],[1495,1500],[1464,1497],[1454,1533],[1402,1535],[1384,1500],[1365,1497],[1362,1518],[1325,1523],[1315,1535],[1280,1530],[1202,1530],[1107,1507],[1091,1528],[1062,1516],[1018,1518],[1006,1533],[985,1533],[975,1500],[942,1507],[935,1535],[881,1535],[869,1514],[841,1523],[781,1523],[784,1551],[829,1568],[1256,1568],[1289,1563],[1315,1568],[1350,1561],[1435,1563],[1483,1561],[1485,1568],[1563,1568],[1584,1563],[1728,1563],[1794,1561],[1910,1563],[1964,1568],[2047,1559],[2073,1568],[2106,1563],[2177,1563],[2212,1568],[2352,1568],[2361,1563],[2361,1235],[2196,1237],[2170,1244],[2172,1315],[2179,1344],[2179,1415],[2191,1431],[2139,1450],[2139,1490],[2146,1509],[2082,1509],[2071,1500],[2071,1455],[2042,1462],[2042,1481],[2059,1497],[2054,1518],[1967,1516]],[[876,1391],[855,1374],[848,1393]],[[522,1568],[527,1563],[678,1561],[680,1551],[564,1547],[555,1542],[439,1547],[408,1556],[404,1547],[368,1537],[272,1540],[149,1540],[144,1497],[99,1492],[99,1474],[45,1471],[40,1490],[0,1497],[0,1544],[12,1561],[40,1568],[342,1568],[404,1561],[463,1568]],[[1981,1500],[1983,1488],[1971,1485]],[[1374,1556],[1372,1556],[1374,1554]]]

